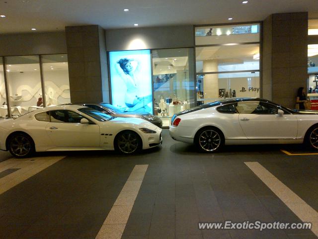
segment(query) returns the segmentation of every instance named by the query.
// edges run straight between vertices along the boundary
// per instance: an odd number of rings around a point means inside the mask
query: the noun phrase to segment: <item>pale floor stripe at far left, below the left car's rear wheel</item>
[[[60,161],[65,156],[35,157],[27,159],[12,158],[0,163],[0,172],[9,168],[19,168],[19,170],[0,178],[0,194],[18,185],[24,180],[32,177],[38,172],[46,169],[52,164]]]

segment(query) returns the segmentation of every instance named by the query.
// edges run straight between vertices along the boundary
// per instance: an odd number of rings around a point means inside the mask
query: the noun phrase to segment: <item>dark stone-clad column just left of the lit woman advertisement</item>
[[[67,26],[72,103],[109,103],[104,30],[98,25]]]

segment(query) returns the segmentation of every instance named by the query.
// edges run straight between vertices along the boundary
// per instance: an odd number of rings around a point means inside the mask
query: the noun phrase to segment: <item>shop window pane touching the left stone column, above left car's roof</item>
[[[46,106],[71,102],[67,54],[42,55]]]

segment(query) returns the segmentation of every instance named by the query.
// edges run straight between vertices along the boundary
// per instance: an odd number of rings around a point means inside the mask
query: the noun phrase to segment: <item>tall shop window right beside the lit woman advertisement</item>
[[[153,50],[152,58],[155,115],[165,119],[193,107],[195,103],[193,49]],[[164,120],[163,124],[166,124]]]

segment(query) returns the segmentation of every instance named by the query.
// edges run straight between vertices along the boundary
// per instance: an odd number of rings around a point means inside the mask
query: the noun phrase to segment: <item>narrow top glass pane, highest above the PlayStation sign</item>
[[[196,45],[259,42],[259,23],[195,27]]]

